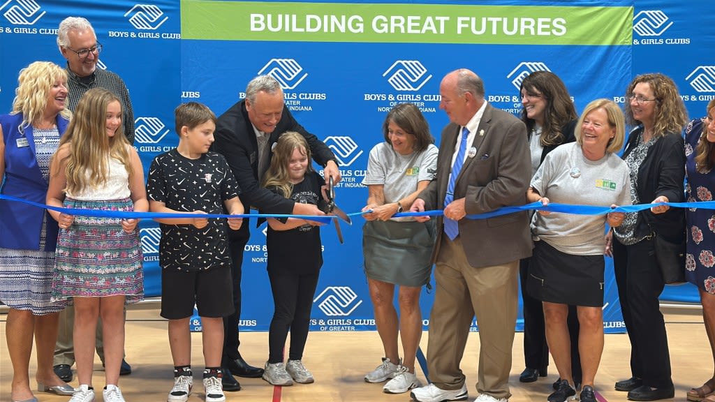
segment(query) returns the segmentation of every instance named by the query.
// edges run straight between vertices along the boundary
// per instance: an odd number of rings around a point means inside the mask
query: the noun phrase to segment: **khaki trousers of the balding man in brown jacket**
[[[441,235],[440,241],[427,350],[430,380],[445,390],[463,386],[465,376],[460,361],[476,315],[480,340],[477,391],[497,399],[509,398],[519,260],[473,268],[467,262],[460,237],[451,241]]]

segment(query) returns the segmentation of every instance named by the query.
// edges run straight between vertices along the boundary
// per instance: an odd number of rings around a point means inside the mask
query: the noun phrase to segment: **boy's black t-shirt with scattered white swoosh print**
[[[164,202],[172,210],[221,214],[223,202],[239,192],[226,160],[216,152],[191,160],[172,149],[154,158],[149,168],[147,197]],[[162,228],[159,242],[162,268],[194,271],[230,265],[225,219],[209,219],[203,229],[194,225],[160,223],[159,226]]]

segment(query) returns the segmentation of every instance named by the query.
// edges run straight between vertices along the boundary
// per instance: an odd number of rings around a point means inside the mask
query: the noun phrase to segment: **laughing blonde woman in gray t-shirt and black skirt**
[[[616,155],[625,125],[618,104],[598,99],[586,106],[576,125],[576,142],[546,155],[531,180],[530,202],[574,205],[631,205],[628,167]],[[621,225],[624,214],[549,214],[532,223],[538,239],[531,258],[528,293],[543,302],[546,338],[561,380],[549,401],[576,396],[571,378],[571,345],[566,327],[568,305],[576,305],[583,371],[581,401],[595,402],[593,381],[603,351],[603,270],[606,222]],[[565,344],[568,343],[568,344]]]

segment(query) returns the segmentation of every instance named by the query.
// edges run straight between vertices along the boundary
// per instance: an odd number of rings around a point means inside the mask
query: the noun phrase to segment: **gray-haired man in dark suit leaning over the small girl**
[[[302,134],[310,146],[315,162],[325,167],[325,177],[331,176],[335,182],[340,180],[335,155],[325,143],[295,121],[285,106],[280,84],[269,75],[252,79],[246,88],[246,98],[218,118],[212,150],[222,154],[231,167],[241,189],[240,200],[245,211],[254,207],[271,214],[325,215],[315,205],[300,204],[261,187],[263,175],[270,166],[273,144],[287,131]],[[230,230],[229,233],[236,310],[234,314],[224,318],[224,391],[241,389],[232,374],[247,378],[263,375],[262,368],[249,366],[238,351],[241,265],[249,236],[248,225],[242,225],[240,230]]]

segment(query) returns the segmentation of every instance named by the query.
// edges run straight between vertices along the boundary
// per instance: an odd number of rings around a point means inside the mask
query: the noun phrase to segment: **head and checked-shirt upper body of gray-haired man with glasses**
[[[84,92],[92,88],[104,88],[113,92],[122,102],[124,135],[134,144],[134,112],[129,91],[117,74],[97,68],[102,44],[97,41],[92,24],[79,16],[68,16],[59,23],[57,46],[67,59],[67,87],[69,109],[74,112]]]

